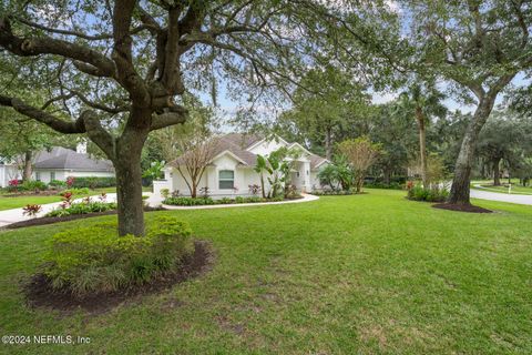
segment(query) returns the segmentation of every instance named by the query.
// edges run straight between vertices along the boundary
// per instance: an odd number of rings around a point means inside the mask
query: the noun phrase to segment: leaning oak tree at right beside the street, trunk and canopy
[[[475,145],[498,95],[532,65],[532,1],[403,1],[416,60],[475,106],[461,142],[450,203],[470,203]],[[419,69],[419,68],[418,68]]]

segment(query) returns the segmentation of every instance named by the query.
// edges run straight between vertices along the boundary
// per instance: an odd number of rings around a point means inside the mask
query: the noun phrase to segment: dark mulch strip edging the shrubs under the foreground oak
[[[98,293],[85,297],[76,297],[70,290],[53,290],[43,274],[34,275],[22,285],[22,288],[28,305],[31,307],[52,308],[66,314],[81,308],[92,314],[102,314],[121,304],[139,302],[143,295],[163,292],[178,283],[207,272],[214,263],[214,253],[211,244],[205,241],[194,241],[194,253],[184,260],[180,270],[174,274],[120,292]]]

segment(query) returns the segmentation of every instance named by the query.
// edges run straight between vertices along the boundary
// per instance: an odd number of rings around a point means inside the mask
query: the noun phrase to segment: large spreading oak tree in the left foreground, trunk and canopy
[[[308,3],[7,1],[1,60],[17,63],[9,74],[28,89],[40,68],[48,97],[35,105],[2,89],[0,105],[62,134],[86,134],[116,170],[119,233],[142,235],[141,152],[150,132],[185,122],[182,95],[215,97],[221,78],[249,100],[297,83],[318,50],[320,21],[345,11]]]

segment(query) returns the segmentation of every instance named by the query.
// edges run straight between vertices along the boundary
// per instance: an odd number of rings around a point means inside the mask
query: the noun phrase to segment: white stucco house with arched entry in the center
[[[254,168],[257,155],[268,155],[282,146],[298,149],[299,156],[290,172],[290,183],[298,191],[310,192],[320,189],[317,173],[328,161],[325,158],[310,153],[299,143],[289,143],[279,136],[265,139],[256,134],[229,133],[217,138],[214,158],[207,164],[198,184],[198,189],[208,187],[208,194],[214,197],[248,195],[249,185],[260,185],[260,176]],[[177,170],[180,156],[166,165],[164,180],[154,181],[154,192],[167,189],[178,191],[182,195],[190,195],[188,185]],[[182,169],[186,175],[186,170]],[[265,176],[265,189],[269,190]],[[190,181],[190,178],[187,178]]]

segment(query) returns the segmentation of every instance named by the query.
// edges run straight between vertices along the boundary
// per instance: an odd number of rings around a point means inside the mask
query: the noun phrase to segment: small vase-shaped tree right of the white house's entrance
[[[382,151],[381,145],[372,143],[367,136],[360,136],[356,140],[341,142],[338,145],[338,150],[349,161],[352,168],[357,193],[360,193],[362,191],[364,179],[369,168],[377,162]]]

